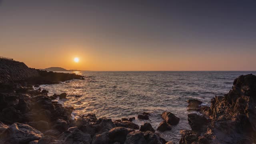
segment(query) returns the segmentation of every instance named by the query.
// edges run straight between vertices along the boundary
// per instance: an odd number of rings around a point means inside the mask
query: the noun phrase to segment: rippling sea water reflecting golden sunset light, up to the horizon
[[[167,141],[178,143],[180,130],[189,130],[188,99],[198,99],[210,106],[214,96],[223,96],[232,88],[235,78],[256,72],[70,72],[86,76],[85,80],[71,80],[62,84],[41,85],[48,95],[66,92],[67,99],[57,100],[76,110],[74,118],[95,113],[99,117],[115,119],[136,117],[136,124],[150,122],[156,130],[162,122],[161,114],[169,111],[180,118],[177,126],[158,132]],[[149,112],[150,120],[138,120],[138,114]]]

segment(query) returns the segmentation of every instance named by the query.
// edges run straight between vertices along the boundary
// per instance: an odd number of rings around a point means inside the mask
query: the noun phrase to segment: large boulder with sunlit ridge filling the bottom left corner
[[[27,124],[14,123],[0,134],[0,144],[26,144],[43,134]]]

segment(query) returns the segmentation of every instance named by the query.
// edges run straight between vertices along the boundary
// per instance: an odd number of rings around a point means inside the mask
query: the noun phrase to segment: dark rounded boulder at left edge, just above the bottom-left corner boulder
[[[22,122],[22,113],[17,111],[14,107],[4,108],[2,113],[0,113],[0,120],[12,124],[14,122]]]

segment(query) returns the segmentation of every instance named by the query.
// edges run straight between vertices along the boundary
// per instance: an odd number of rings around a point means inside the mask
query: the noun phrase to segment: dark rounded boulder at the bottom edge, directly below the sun
[[[64,144],[91,144],[92,142],[90,134],[86,134],[77,128],[72,132],[62,133],[58,140],[61,140]]]

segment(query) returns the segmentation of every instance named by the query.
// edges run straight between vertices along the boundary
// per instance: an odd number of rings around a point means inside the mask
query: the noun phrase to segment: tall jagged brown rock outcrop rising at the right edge
[[[256,76],[239,76],[232,90],[215,96],[210,107],[189,114],[192,130],[181,131],[180,144],[226,144],[256,142]],[[194,144],[193,143],[193,144]]]

